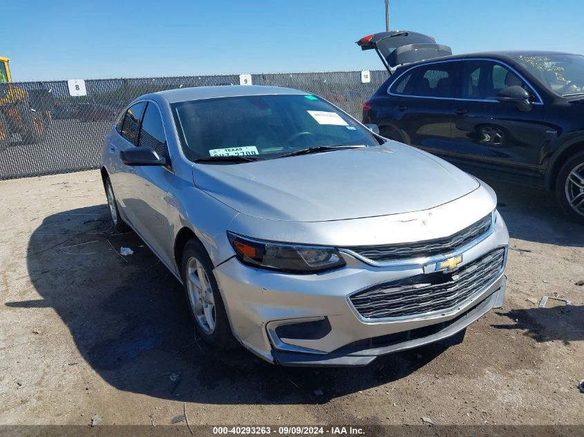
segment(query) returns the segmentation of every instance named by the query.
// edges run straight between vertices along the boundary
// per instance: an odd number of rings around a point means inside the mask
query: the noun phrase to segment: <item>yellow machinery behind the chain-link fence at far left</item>
[[[11,142],[39,142],[50,122],[50,112],[32,107],[29,93],[11,84],[10,59],[0,57],[0,147]]]

